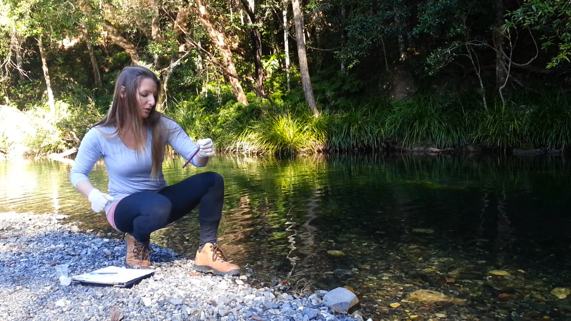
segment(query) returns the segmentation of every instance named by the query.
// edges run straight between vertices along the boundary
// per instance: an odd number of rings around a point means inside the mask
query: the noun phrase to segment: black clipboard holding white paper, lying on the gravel
[[[135,269],[116,266],[108,266],[71,276],[71,282],[99,286],[128,287],[142,279],[149,278],[155,273],[151,269]]]

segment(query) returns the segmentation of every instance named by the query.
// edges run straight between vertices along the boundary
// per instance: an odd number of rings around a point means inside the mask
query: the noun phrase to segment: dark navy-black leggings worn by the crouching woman
[[[217,172],[192,175],[158,192],[136,192],[121,199],[115,207],[115,226],[142,243],[151,232],[182,218],[198,204],[200,246],[216,242],[222,218],[224,179]]]

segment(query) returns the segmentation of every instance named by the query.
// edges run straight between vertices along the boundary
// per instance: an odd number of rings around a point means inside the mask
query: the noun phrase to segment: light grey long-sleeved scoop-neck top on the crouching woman
[[[188,159],[199,149],[199,145],[188,137],[182,127],[167,117],[161,117],[164,134],[163,142]],[[83,179],[88,179],[89,173],[99,158],[103,158],[109,185],[107,191],[115,202],[125,196],[139,191],[156,191],[167,186],[164,180],[162,164],[157,178],[151,178],[151,129],[147,129],[147,142],[144,151],[137,153],[128,149],[123,142],[116,137],[115,129],[110,126],[98,126],[90,129],[81,144],[75,164],[71,168],[70,181],[75,187]],[[106,134],[105,137],[103,134]],[[196,167],[202,167],[194,157],[191,163]],[[115,202],[107,204],[106,210]]]

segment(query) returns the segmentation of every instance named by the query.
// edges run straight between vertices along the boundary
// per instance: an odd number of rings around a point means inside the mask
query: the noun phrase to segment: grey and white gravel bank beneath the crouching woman
[[[192,260],[156,244],[154,276],[131,288],[60,284],[57,264],[69,264],[70,276],[126,266],[124,241],[104,236],[65,215],[0,213],[0,319],[361,320],[323,306],[326,291],[297,296],[251,287],[247,274],[196,276]]]

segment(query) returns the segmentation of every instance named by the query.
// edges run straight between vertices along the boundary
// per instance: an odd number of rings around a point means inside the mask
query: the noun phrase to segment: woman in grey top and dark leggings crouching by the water
[[[227,262],[216,242],[224,201],[222,176],[203,172],[171,186],[164,180],[162,163],[167,143],[196,167],[206,166],[214,146],[210,138],[194,143],[176,122],[156,111],[159,88],[151,70],[140,66],[123,69],[116,80],[111,109],[79,146],[71,183],[89,199],[95,212],[105,210],[111,226],[126,233],[129,266],[150,266],[151,232],[200,204],[195,269],[238,275],[239,267]],[[94,188],[88,178],[99,158],[103,158],[109,176],[109,194]]]

